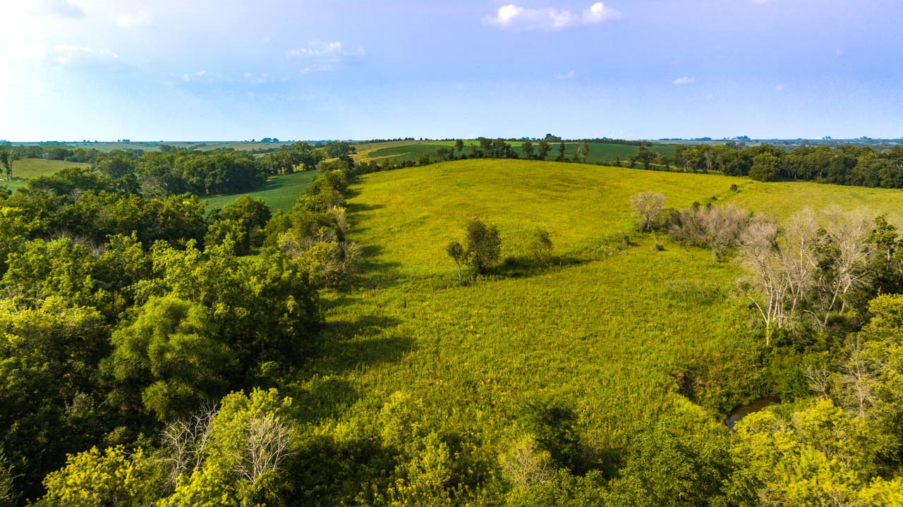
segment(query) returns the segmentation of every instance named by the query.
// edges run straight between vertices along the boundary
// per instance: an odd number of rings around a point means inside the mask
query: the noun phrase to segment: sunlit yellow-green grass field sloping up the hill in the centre
[[[326,295],[323,345],[288,390],[308,431],[347,438],[404,392],[423,404],[423,424],[492,461],[523,437],[526,405],[554,399],[604,456],[651,421],[700,410],[677,393],[681,373],[706,376],[713,419],[766,394],[763,340],[734,291],[740,267],[633,232],[629,198],[646,190],[673,207],[736,202],[779,217],[832,203],[903,207],[893,190],[539,161],[365,175],[349,212],[366,271],[356,289]],[[498,225],[503,257],[525,255],[541,226],[572,262],[461,286],[444,248],[474,217]]]

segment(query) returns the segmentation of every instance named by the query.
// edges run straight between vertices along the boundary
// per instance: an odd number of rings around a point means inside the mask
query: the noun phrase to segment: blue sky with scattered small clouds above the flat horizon
[[[898,0],[31,0],[0,139],[903,136]]]

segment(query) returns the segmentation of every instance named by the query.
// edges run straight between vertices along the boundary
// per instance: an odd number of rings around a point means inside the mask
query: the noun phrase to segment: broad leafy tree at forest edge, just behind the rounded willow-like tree
[[[243,262],[228,246],[202,254],[191,243],[184,250],[156,244],[151,256],[154,279],[136,285],[139,303],[174,296],[209,309],[241,373],[267,362],[303,362],[320,324],[320,308],[309,273],[299,263],[275,251]]]

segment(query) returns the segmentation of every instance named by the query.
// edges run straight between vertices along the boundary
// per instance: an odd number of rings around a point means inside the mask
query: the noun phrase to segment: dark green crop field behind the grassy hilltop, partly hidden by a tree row
[[[465,141],[464,142],[464,151],[463,153],[466,155],[470,154],[470,145],[479,145],[476,141]],[[517,147],[517,152],[520,152],[521,143],[510,143]],[[533,143],[534,150],[536,150],[536,144]],[[564,156],[567,158],[573,157],[574,152],[577,151],[577,146],[579,143],[564,143],[565,152]],[[433,160],[436,160],[436,150],[442,147],[450,148],[454,147],[454,142],[452,141],[406,141],[406,142],[396,142],[396,143],[368,143],[361,144],[358,146],[358,153],[362,153],[366,156],[366,158],[370,160],[384,160],[384,161],[418,161],[420,160],[420,156],[422,154],[429,155]],[[652,144],[649,146],[649,149],[654,152],[662,153],[666,156],[674,155],[674,145],[673,144]],[[588,161],[590,163],[596,162],[614,162],[620,159],[627,164],[628,158],[633,156],[637,151],[638,146],[631,146],[628,144],[609,144],[609,143],[590,143],[590,157]],[[548,160],[554,160],[555,157],[558,156],[558,143],[552,143],[551,150],[549,152]]]

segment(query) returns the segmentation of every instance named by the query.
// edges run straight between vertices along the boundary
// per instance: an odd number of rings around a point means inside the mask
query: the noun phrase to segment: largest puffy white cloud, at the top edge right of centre
[[[508,4],[498,7],[496,15],[485,16],[483,23],[511,30],[561,30],[572,26],[603,23],[618,19],[620,15],[618,11],[601,2],[591,5],[581,15],[568,10],[560,11],[554,7],[527,9]]]

